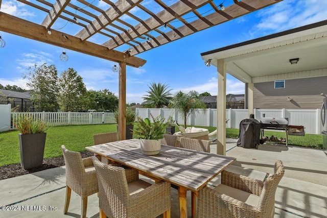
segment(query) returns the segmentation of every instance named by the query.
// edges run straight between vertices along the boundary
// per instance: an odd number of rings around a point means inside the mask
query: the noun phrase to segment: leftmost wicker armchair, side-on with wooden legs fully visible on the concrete
[[[66,165],[66,197],[64,214],[67,213],[72,190],[82,197],[81,217],[86,217],[87,197],[98,192],[98,180],[92,157],[83,158],[79,152],[61,146]]]

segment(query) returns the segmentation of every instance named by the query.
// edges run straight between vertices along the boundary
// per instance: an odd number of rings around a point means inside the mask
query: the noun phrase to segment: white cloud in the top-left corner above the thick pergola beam
[[[35,17],[35,14],[27,11],[25,6],[25,4],[17,3],[17,1],[4,1],[1,5],[1,11],[21,18]]]

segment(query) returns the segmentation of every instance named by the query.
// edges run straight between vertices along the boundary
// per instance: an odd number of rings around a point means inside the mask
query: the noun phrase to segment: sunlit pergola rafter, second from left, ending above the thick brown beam
[[[99,30],[124,15],[127,11],[141,3],[143,0],[119,0],[110,7],[108,10],[92,21],[86,28],[82,29],[75,36],[81,38],[82,40],[88,39],[92,35],[96,34]]]

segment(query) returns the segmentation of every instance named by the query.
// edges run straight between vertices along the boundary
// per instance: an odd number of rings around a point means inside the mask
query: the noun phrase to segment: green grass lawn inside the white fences
[[[200,128],[206,128],[209,132],[216,129],[215,127]],[[116,131],[115,124],[50,127],[46,131],[44,159],[62,156],[62,144],[69,150],[81,152],[85,151],[85,147],[93,145],[93,134]],[[176,131],[178,131],[178,128],[176,128]],[[18,131],[0,133],[0,166],[20,162],[18,133]],[[238,129],[226,129],[227,138],[238,138],[238,135]],[[285,132],[265,131],[265,136],[270,137],[271,135],[278,138],[285,137]],[[322,136],[315,134],[289,136],[289,145],[321,149]]]

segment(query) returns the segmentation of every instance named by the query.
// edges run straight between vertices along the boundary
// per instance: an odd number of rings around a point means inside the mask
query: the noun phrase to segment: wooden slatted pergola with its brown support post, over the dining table
[[[0,0],[0,31],[119,63],[119,136],[125,139],[126,65],[146,63],[135,55],[283,0],[180,0],[169,6],[164,0],[102,0],[105,10],[95,1],[17,1],[44,16],[36,23],[4,13]],[[93,37],[104,40],[97,44]]]

